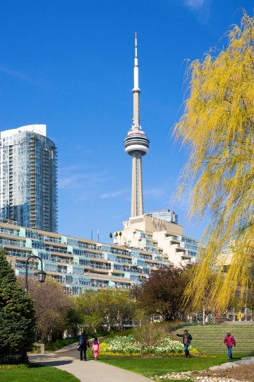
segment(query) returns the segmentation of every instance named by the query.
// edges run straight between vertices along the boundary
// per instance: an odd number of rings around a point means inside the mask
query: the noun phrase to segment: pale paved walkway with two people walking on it
[[[88,359],[86,362],[80,361],[78,357],[79,352],[77,350],[69,350],[68,352],[61,352],[61,354],[29,354],[29,361],[68,371],[68,373],[71,373],[78,378],[80,382],[151,381],[150,378],[131,373],[131,371],[119,369],[118,367],[107,365],[99,361],[93,361],[91,359]]]

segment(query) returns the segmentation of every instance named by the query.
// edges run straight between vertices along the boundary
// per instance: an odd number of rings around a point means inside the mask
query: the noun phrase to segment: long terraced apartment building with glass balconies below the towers
[[[138,250],[126,245],[97,243],[60,233],[18,226],[16,221],[1,219],[1,249],[8,252],[16,274],[25,276],[25,262],[30,255],[42,259],[43,270],[63,285],[67,294],[78,295],[83,289],[120,288],[143,282],[152,270],[169,265],[159,248]],[[40,260],[29,262],[28,275],[40,270]]]

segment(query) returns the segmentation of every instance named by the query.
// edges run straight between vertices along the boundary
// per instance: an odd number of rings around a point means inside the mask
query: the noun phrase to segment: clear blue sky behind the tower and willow
[[[0,4],[0,129],[46,124],[59,152],[59,232],[109,241],[131,211],[131,157],[138,33],[145,212],[173,209],[188,236],[188,199],[172,202],[187,158],[171,129],[181,115],[185,59],[198,59],[250,0],[9,0]],[[224,42],[219,42],[220,45]]]

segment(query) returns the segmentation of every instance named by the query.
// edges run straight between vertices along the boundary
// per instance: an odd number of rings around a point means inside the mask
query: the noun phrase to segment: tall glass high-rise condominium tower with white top
[[[46,125],[1,132],[0,216],[57,231],[57,152]]]

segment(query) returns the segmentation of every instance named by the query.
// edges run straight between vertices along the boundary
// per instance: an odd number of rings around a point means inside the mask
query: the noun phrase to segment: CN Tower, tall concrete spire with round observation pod
[[[124,139],[126,154],[132,156],[131,217],[144,214],[142,157],[148,154],[149,138],[140,126],[140,88],[138,87],[138,45],[135,33],[133,125]]]

